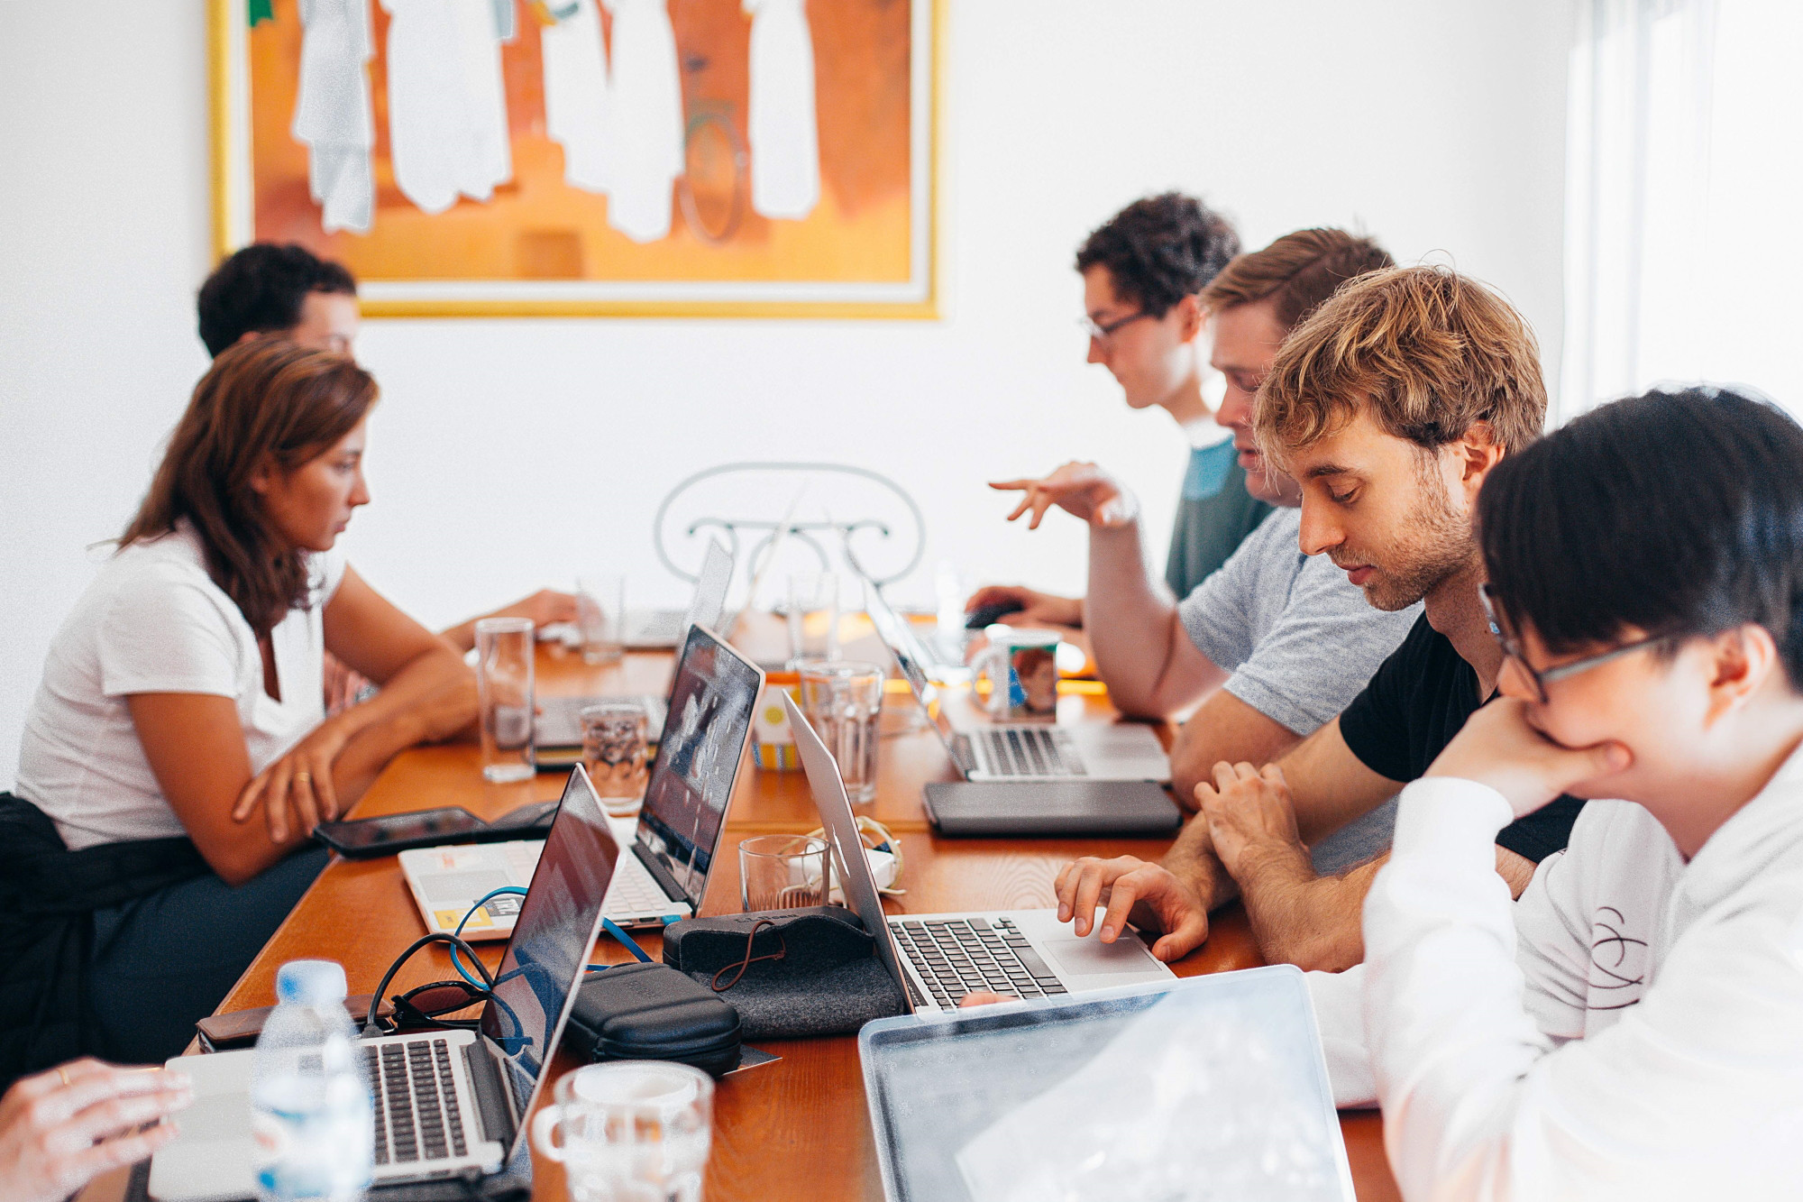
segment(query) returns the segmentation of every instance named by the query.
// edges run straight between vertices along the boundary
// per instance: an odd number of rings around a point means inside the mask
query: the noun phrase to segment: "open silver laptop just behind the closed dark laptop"
[[[947,754],[965,780],[1170,780],[1170,756],[1149,727],[1138,722],[979,724],[965,711],[974,706],[965,688],[939,688],[929,675],[932,657],[883,594],[865,587],[864,606],[889,655],[939,733]],[[957,717],[954,717],[957,715]]]

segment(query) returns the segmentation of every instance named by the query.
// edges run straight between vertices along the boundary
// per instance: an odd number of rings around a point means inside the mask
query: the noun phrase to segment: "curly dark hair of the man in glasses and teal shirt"
[[[1107,267],[1114,294],[1163,318],[1239,254],[1239,235],[1195,197],[1167,191],[1134,200],[1084,238],[1076,271]]]

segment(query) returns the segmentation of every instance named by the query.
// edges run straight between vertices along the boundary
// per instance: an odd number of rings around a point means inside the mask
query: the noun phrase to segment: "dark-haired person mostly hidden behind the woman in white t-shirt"
[[[254,242],[222,262],[200,285],[200,341],[220,356],[252,337],[281,337],[308,350],[348,356],[359,330],[357,280],[343,264],[305,245]],[[483,617],[530,617],[535,624],[575,621],[575,597],[541,588],[492,614],[471,617],[440,633],[458,650],[476,646]],[[368,684],[335,659],[326,659],[326,706],[341,709]]]

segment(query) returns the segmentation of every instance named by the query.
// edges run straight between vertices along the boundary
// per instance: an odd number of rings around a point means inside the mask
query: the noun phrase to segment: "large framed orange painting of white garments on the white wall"
[[[209,4],[222,256],[368,316],[939,316],[947,0]]]

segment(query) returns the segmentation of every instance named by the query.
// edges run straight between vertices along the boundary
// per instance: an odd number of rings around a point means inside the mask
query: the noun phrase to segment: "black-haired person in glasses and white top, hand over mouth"
[[[1403,791],[1365,964],[1311,973],[1405,1197],[1803,1193],[1803,428],[1648,392],[1477,505],[1502,697]],[[1509,904],[1496,832],[1570,846]]]

